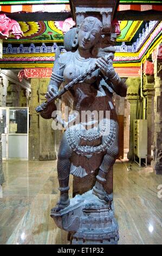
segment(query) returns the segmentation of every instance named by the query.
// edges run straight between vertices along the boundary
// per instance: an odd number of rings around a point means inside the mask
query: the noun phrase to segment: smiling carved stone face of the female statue
[[[100,29],[94,23],[83,22],[78,33],[79,47],[88,50],[99,40]]]

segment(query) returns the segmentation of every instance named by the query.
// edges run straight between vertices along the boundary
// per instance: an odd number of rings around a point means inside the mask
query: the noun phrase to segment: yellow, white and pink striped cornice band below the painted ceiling
[[[138,52],[121,52],[115,53],[114,66],[133,65],[139,66],[143,58],[149,57],[154,48],[162,41],[162,22],[154,29],[154,31],[148,36],[145,43],[142,45]],[[23,47],[23,46],[22,46]],[[34,45],[32,45],[34,47]],[[54,47],[54,46],[53,46]],[[36,47],[35,47],[36,48]],[[41,50],[42,49],[42,50]],[[46,50],[45,50],[46,49]],[[55,60],[55,48],[53,52],[48,51],[49,48],[46,45],[40,47],[40,53],[31,50],[30,53],[25,54],[25,51],[18,51],[19,54],[4,54],[0,59],[1,67],[52,67]],[[15,55],[15,56],[14,56]]]

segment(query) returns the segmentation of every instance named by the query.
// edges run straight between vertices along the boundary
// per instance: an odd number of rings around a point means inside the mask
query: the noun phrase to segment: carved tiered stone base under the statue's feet
[[[112,194],[109,195],[112,198]],[[119,240],[118,223],[113,203],[100,200],[92,190],[70,199],[70,205],[60,212],[51,210],[57,227],[70,231],[72,244],[116,245]]]

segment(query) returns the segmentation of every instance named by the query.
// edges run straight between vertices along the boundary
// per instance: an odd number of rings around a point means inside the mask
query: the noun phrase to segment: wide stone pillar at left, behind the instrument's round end
[[[29,160],[56,160],[52,120],[43,119],[35,107],[44,101],[49,78],[31,78]]]

